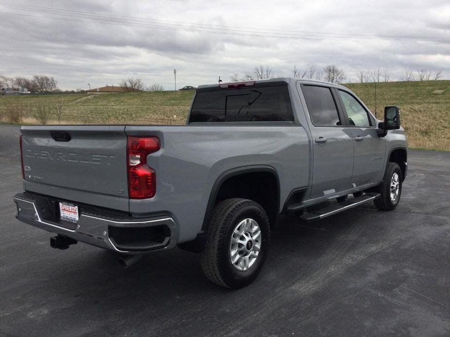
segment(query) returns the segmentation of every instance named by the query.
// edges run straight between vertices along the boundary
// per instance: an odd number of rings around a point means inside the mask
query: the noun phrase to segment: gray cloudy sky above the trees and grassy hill
[[[0,0],[0,74],[54,76],[61,89],[141,77],[174,88],[234,73],[328,64],[443,70],[450,79],[448,0]]]

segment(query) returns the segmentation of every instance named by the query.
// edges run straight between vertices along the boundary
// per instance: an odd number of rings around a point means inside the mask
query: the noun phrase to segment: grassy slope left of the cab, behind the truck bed
[[[54,108],[62,104],[61,123],[74,124],[184,124],[194,91],[161,91],[120,94],[61,94],[0,96],[0,117],[8,108],[26,111],[23,123],[36,124],[36,108],[50,110],[50,123],[57,123]],[[17,106],[19,105],[19,106]]]

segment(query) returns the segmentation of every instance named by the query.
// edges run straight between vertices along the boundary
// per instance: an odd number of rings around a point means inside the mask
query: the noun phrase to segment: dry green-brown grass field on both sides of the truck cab
[[[373,83],[345,85],[375,113]],[[48,123],[58,123],[53,111],[60,103],[64,124],[183,124],[193,95],[193,91],[162,91],[0,96],[0,120],[11,122],[16,109],[22,111],[22,123],[36,124],[36,107],[44,106],[50,114]],[[377,83],[378,118],[385,105],[400,107],[410,147],[450,151],[450,81]]]

